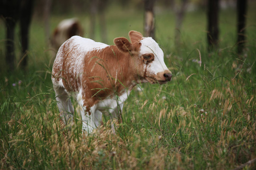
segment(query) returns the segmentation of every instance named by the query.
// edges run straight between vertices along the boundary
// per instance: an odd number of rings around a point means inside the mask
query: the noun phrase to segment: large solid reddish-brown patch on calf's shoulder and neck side
[[[133,79],[130,57],[129,53],[120,52],[116,46],[87,53],[83,68],[86,76],[82,76],[82,82],[86,82],[85,98],[104,99],[128,87]]]

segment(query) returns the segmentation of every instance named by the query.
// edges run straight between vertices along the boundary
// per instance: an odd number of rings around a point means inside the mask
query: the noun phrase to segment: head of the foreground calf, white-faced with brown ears
[[[128,53],[130,65],[137,72],[140,83],[165,84],[172,79],[171,71],[164,62],[164,52],[151,37],[143,37],[137,31],[129,32],[130,41],[124,37],[115,38],[119,51]]]

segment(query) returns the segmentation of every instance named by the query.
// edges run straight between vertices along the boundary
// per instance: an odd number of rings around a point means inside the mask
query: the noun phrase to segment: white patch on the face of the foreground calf
[[[164,52],[159,45],[151,37],[143,38],[141,41],[140,55],[143,54],[154,54],[154,60],[148,65],[144,65],[144,71],[147,75],[156,75],[159,72],[168,70],[164,62]]]

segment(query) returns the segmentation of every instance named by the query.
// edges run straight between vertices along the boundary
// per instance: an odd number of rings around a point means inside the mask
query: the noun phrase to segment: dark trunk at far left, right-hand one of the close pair
[[[20,66],[25,69],[27,67],[27,49],[29,42],[29,26],[32,17],[34,0],[22,0],[20,12],[20,36],[21,36],[21,51]]]

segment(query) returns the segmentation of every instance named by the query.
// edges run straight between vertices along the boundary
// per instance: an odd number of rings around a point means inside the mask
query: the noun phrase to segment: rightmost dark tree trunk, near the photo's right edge
[[[246,14],[247,14],[247,0],[237,0],[237,22],[238,22],[238,54],[241,54],[244,49],[246,41]]]

